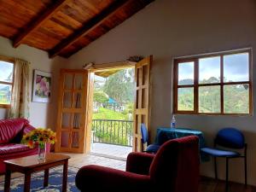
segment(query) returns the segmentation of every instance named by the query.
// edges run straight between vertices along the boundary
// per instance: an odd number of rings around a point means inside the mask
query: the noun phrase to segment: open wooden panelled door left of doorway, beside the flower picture
[[[86,70],[61,69],[58,97],[56,152],[85,153],[90,127],[90,73]]]

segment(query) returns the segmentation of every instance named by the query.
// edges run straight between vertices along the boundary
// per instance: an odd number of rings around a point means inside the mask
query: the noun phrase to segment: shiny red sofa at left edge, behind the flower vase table
[[[27,119],[0,120],[0,174],[5,172],[3,160],[38,154],[38,148],[20,144],[23,134],[33,129]]]

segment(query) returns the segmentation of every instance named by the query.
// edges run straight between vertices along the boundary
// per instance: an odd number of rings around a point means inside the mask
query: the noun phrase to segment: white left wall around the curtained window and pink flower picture
[[[17,49],[12,47],[11,42],[7,38],[0,38],[0,55],[20,58],[26,61],[30,61],[31,65],[31,77],[33,69],[38,69],[44,72],[52,73],[53,75],[53,87],[52,87],[52,102],[39,103],[31,102],[30,106],[30,121],[31,124],[36,127],[49,127],[55,130],[55,119],[57,113],[57,94],[58,94],[58,80],[59,69],[65,67],[67,63],[66,59],[61,57],[55,57],[55,59],[49,59],[48,54],[45,51],[34,49],[26,45],[20,45]],[[32,92],[32,78],[30,80],[30,90]],[[32,96],[32,93],[31,93]],[[5,119],[7,111],[3,108],[0,109],[0,119]]]

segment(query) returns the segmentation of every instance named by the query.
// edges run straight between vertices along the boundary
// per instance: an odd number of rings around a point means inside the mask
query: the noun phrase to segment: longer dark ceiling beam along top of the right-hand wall
[[[54,49],[49,51],[49,58],[59,55],[63,49],[66,49],[71,44],[75,43],[79,38],[84,37],[86,34],[94,30],[97,26],[100,26],[105,20],[115,15],[120,9],[124,8],[132,0],[116,0],[107,9],[104,9],[99,15],[96,15],[84,26],[79,29],[78,32],[74,32],[71,36],[63,40],[60,44],[57,44]]]

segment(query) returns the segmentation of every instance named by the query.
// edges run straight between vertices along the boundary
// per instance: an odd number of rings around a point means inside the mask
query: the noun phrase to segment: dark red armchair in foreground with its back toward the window
[[[82,192],[198,192],[198,138],[170,140],[157,154],[131,153],[126,172],[84,166],[77,173],[76,185]]]

